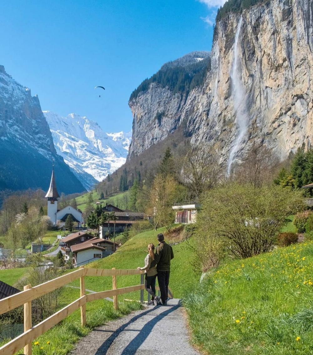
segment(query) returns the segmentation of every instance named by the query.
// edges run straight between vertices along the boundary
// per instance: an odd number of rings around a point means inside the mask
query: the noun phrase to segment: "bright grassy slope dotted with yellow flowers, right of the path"
[[[309,242],[212,271],[184,299],[194,343],[212,355],[313,354],[312,267]]]

